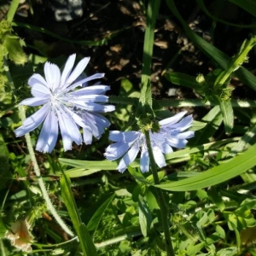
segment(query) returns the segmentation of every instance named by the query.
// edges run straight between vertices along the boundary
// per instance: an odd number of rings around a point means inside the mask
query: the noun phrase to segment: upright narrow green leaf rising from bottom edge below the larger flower
[[[79,236],[79,242],[84,253],[84,256],[97,256],[96,248],[92,242],[92,239],[86,229],[85,225],[82,224],[79,217],[77,205],[73,198],[71,191],[71,181],[65,173],[61,177],[61,196],[67,207],[67,212],[72,220],[73,227]]]

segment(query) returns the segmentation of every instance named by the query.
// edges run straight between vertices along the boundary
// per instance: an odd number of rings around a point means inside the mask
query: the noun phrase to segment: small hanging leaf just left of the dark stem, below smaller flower
[[[139,221],[143,236],[148,236],[150,230],[150,225],[152,223],[152,216],[148,203],[144,201],[143,196],[138,197],[138,207],[139,207]]]

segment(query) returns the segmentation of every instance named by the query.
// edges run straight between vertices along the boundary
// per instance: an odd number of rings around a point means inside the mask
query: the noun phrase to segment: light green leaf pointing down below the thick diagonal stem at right
[[[219,102],[219,107],[222,113],[222,117],[224,120],[224,127],[226,134],[230,134],[234,126],[234,113],[233,108],[230,101]]]

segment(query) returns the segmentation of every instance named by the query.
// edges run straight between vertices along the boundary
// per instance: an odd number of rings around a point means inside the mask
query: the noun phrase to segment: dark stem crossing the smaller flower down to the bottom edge
[[[158,177],[157,167],[154,162],[154,154],[153,154],[153,149],[151,147],[149,131],[145,131],[145,137],[146,137],[146,142],[147,142],[147,147],[148,147],[148,156],[149,156],[149,161],[150,161],[150,167],[151,167],[152,174],[154,177],[154,183],[159,184],[160,180]],[[175,254],[173,252],[171,234],[169,232],[169,223],[168,223],[169,212],[168,212],[168,208],[166,206],[165,195],[161,189],[156,189],[156,193],[158,196],[161,220],[162,220],[163,229],[164,229],[164,233],[165,233],[166,253],[167,253],[167,256],[174,256]]]

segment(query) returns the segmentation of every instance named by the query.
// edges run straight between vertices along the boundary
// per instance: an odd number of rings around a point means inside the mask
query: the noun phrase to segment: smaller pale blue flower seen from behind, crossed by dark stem
[[[194,131],[186,131],[193,122],[192,115],[183,118],[186,113],[183,111],[161,120],[158,132],[149,131],[154,161],[160,168],[166,166],[164,154],[172,153],[172,147],[184,148],[187,139],[194,137]],[[106,148],[105,156],[108,160],[121,158],[117,167],[119,172],[125,172],[126,167],[136,159],[139,151],[141,151],[141,170],[148,172],[148,148],[143,131],[110,131],[109,139],[114,143]]]

